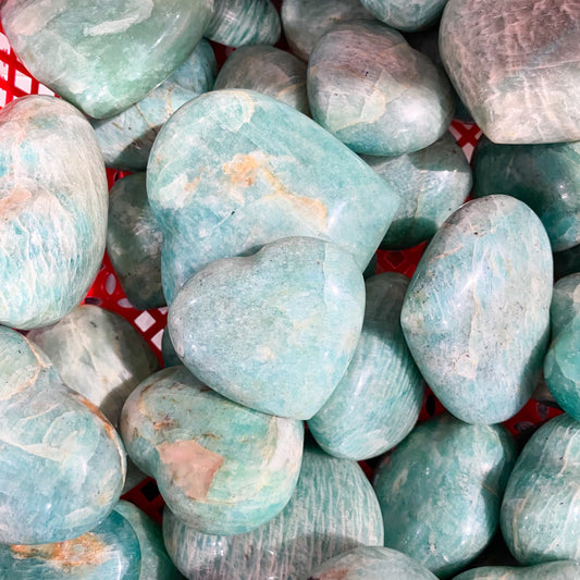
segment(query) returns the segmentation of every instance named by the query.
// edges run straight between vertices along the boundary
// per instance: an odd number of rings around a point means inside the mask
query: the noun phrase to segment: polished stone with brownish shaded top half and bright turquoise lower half
[[[312,119],[357,153],[395,156],[436,141],[453,119],[445,75],[393,28],[331,28],[308,61]]]

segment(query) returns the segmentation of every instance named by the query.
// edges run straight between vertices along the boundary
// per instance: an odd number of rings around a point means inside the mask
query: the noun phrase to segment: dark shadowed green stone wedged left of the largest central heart
[[[145,173],[119,180],[109,196],[107,252],[129,303],[139,310],[165,306],[159,230],[147,198]]]

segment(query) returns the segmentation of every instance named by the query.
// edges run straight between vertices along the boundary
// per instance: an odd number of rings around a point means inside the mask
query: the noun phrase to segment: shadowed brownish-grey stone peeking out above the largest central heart
[[[308,114],[306,64],[270,46],[242,47],[232,52],[215,78],[215,89],[248,88],[269,95]]]

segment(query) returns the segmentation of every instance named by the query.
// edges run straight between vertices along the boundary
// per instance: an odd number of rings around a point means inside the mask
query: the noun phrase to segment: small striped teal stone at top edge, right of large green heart
[[[280,16],[270,0],[213,0],[213,12],[203,36],[238,48],[274,45],[280,33]]]

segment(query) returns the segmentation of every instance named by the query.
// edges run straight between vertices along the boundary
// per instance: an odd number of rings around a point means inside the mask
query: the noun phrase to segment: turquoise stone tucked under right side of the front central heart
[[[362,460],[399,443],[415,427],[423,379],[400,329],[409,279],[395,272],[367,280],[365,321],[338,386],[308,421],[318,444],[336,457]]]

